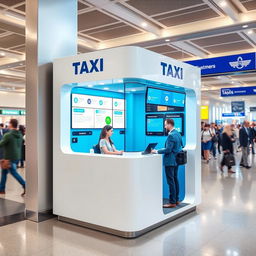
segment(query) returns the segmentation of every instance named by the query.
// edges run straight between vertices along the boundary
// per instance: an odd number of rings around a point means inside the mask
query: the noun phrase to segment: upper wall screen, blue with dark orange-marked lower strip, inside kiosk
[[[185,107],[185,94],[168,90],[147,88],[146,111],[182,111]]]

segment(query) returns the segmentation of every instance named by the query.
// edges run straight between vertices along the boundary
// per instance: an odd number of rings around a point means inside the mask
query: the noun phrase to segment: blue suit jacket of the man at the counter
[[[164,166],[177,166],[176,155],[182,150],[182,138],[178,131],[172,130],[165,142],[165,148],[159,149],[158,154],[163,154]]]

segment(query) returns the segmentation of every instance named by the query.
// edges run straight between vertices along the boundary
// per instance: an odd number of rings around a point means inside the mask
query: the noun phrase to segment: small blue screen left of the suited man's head
[[[164,115],[146,115],[146,134],[164,134]]]

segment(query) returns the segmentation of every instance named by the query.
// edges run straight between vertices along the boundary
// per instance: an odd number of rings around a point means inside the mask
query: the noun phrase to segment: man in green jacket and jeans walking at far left
[[[7,174],[11,175],[21,184],[25,195],[25,181],[17,172],[17,163],[21,155],[22,135],[18,131],[18,120],[11,119],[9,123],[9,132],[5,133],[0,141],[0,148],[4,149],[4,159],[10,161],[11,167],[9,169],[2,170],[1,182],[0,182],[0,194],[5,194],[5,185],[7,180]]]

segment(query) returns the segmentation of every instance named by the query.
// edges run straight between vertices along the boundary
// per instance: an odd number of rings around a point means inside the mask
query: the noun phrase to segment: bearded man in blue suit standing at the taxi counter
[[[179,202],[179,180],[178,168],[176,163],[176,155],[182,150],[182,138],[180,133],[174,128],[173,119],[165,120],[165,129],[168,131],[168,137],[165,142],[165,148],[153,150],[153,153],[163,154],[163,164],[165,166],[165,174],[169,185],[169,203],[164,204],[164,208],[174,208]]]

